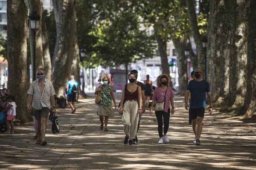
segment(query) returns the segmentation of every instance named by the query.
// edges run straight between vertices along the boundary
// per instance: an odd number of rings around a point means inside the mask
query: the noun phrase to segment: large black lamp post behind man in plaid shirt
[[[30,29],[33,31],[33,78],[36,79],[36,31],[38,30],[40,16],[37,15],[36,11],[33,11],[32,14],[29,15],[30,20]]]

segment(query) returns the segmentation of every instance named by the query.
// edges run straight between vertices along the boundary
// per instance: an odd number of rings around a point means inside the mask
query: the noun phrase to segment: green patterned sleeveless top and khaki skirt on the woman
[[[98,105],[98,115],[102,116],[114,116],[114,110],[112,108],[111,86],[102,85],[100,102]]]

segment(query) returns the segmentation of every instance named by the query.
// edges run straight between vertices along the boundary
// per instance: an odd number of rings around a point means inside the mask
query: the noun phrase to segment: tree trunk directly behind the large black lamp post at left
[[[30,14],[33,13],[33,11],[36,11],[36,13],[41,17],[38,25],[38,30],[36,31],[36,69],[38,68],[44,68],[43,63],[43,48],[42,48],[42,6],[41,6],[41,0],[29,0],[29,12]],[[33,37],[33,31],[31,31],[31,27],[29,26],[29,32],[30,32],[30,44],[33,44],[34,37]],[[34,47],[33,45],[30,46],[31,51],[31,63],[33,63],[33,51]],[[33,64],[32,68],[33,68]],[[33,70],[33,69],[32,69]],[[36,71],[36,70],[33,70]],[[33,77],[33,80],[35,80],[36,77]]]

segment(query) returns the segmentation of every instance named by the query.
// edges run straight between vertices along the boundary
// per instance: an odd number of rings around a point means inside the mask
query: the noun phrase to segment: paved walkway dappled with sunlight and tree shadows
[[[121,93],[115,93],[120,99]],[[93,95],[92,95],[93,96]],[[60,133],[47,145],[36,145],[32,123],[15,126],[15,134],[0,134],[0,169],[248,169],[256,170],[255,120],[237,120],[215,111],[205,115],[201,145],[193,144],[183,96],[175,96],[175,114],[167,135],[157,144],[156,117],[146,111],[138,132],[139,143],[124,145],[121,116],[109,119],[108,132],[99,130],[94,97],[77,103],[77,111],[58,109]]]

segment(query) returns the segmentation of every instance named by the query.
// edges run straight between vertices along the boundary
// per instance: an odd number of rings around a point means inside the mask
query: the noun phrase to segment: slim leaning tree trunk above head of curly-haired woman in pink
[[[161,38],[160,35],[158,35],[157,26],[154,26],[154,32],[155,32],[155,35],[157,38],[158,49],[159,49],[159,53],[160,53],[160,57],[161,57],[162,74],[166,74],[170,77],[170,69],[169,69],[167,53],[166,53],[167,43],[163,38]],[[170,83],[171,83],[170,87],[173,88],[172,82],[170,82]]]

